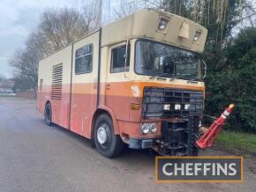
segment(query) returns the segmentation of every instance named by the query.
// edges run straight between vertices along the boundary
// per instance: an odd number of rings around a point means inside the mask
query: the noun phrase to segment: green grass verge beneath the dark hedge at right
[[[225,148],[227,151],[238,154],[256,155],[256,135],[252,133],[222,130],[215,144],[218,148]]]

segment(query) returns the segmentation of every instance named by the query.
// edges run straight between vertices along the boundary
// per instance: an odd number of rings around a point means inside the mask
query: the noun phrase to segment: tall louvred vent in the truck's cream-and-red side
[[[62,98],[63,64],[52,67],[51,99],[61,100]]]

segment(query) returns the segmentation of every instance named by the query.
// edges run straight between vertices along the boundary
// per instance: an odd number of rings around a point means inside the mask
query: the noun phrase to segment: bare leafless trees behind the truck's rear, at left
[[[17,49],[9,59],[16,85],[19,88],[27,88],[29,85],[28,87],[36,90],[38,63],[41,58],[99,27],[99,9],[94,1],[80,4],[79,9],[46,9],[37,29],[28,36],[25,48]]]

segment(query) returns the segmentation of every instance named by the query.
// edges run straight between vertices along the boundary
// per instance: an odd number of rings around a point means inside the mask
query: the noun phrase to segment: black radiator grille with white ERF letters
[[[176,108],[180,105],[180,109]],[[185,106],[189,106],[186,108]],[[168,109],[166,109],[166,107]],[[146,87],[142,116],[162,117],[200,115],[203,113],[203,92]]]

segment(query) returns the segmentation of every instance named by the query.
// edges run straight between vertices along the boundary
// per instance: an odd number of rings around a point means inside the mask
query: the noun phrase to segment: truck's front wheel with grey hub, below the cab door
[[[115,135],[113,122],[108,114],[101,114],[95,122],[94,143],[99,153],[107,158],[117,157],[123,149],[123,141]]]

